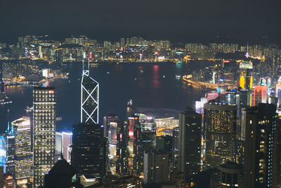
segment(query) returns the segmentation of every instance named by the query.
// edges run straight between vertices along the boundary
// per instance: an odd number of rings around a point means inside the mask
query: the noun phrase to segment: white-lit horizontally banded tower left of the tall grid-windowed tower
[[[15,182],[24,185],[29,182],[32,170],[30,118],[22,117],[11,124],[15,134]]]

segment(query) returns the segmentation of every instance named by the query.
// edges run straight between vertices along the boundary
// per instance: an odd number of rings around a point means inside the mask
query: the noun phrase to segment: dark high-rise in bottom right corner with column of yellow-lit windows
[[[273,187],[273,142],[276,107],[259,104],[243,108],[245,119],[244,187]]]

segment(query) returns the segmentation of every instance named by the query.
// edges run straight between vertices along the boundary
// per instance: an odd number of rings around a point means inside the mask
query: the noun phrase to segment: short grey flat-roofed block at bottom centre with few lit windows
[[[144,153],[143,182],[162,183],[169,181],[169,154],[166,152]]]

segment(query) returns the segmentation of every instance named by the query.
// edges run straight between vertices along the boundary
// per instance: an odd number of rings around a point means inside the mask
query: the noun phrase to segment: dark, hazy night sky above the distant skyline
[[[277,0],[0,0],[0,42],[19,35],[281,42],[280,7]]]

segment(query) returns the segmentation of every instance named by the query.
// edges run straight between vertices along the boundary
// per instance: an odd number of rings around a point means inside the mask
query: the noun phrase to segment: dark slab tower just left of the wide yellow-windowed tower
[[[179,114],[178,170],[185,177],[200,173],[202,115],[195,111]]]

